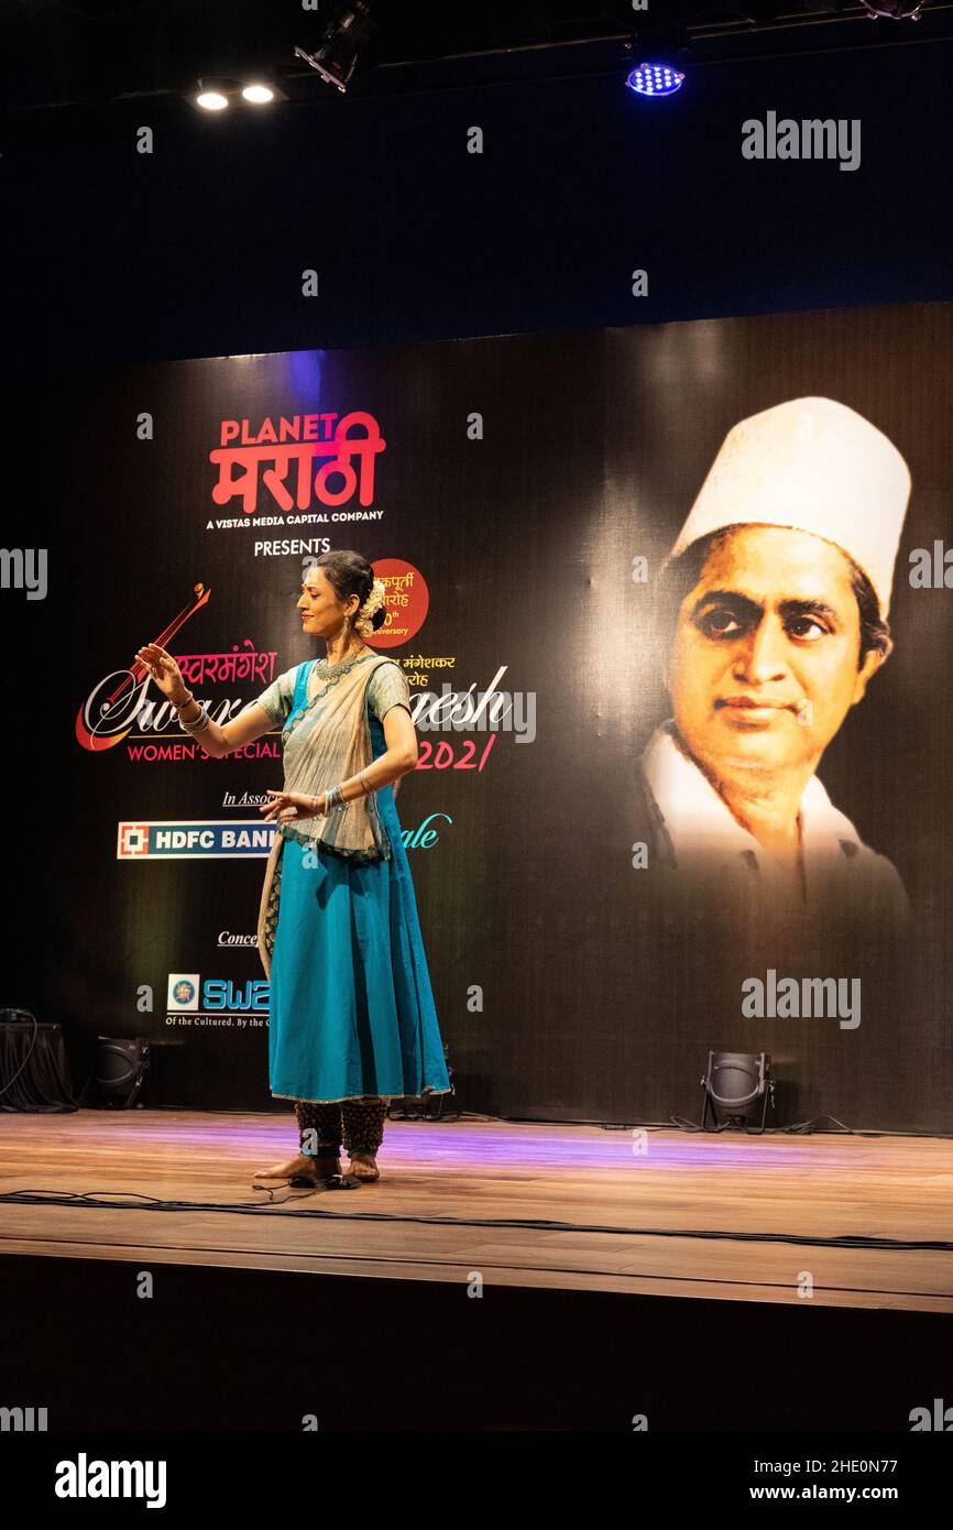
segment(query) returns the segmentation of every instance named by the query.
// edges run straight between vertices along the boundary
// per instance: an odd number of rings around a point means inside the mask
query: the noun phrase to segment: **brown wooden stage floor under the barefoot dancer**
[[[8,1255],[802,1305],[808,1271],[815,1307],[953,1313],[953,1248],[922,1247],[953,1239],[942,1138],[650,1129],[635,1154],[597,1126],[389,1121],[378,1183],[265,1190],[291,1117],[8,1114],[0,1137],[0,1193],[44,1201],[0,1203]],[[825,1242],[857,1238],[887,1245]]]

